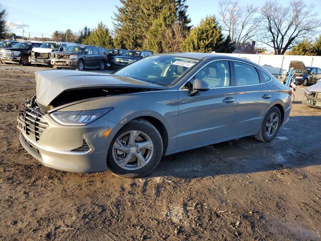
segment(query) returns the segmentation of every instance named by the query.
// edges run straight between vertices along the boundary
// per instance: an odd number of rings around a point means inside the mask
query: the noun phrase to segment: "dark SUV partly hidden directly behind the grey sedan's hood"
[[[145,58],[152,55],[150,51],[136,51],[136,50],[126,50],[121,56],[116,56],[113,59],[112,68],[114,70],[120,69],[127,64],[131,64],[139,59]]]

